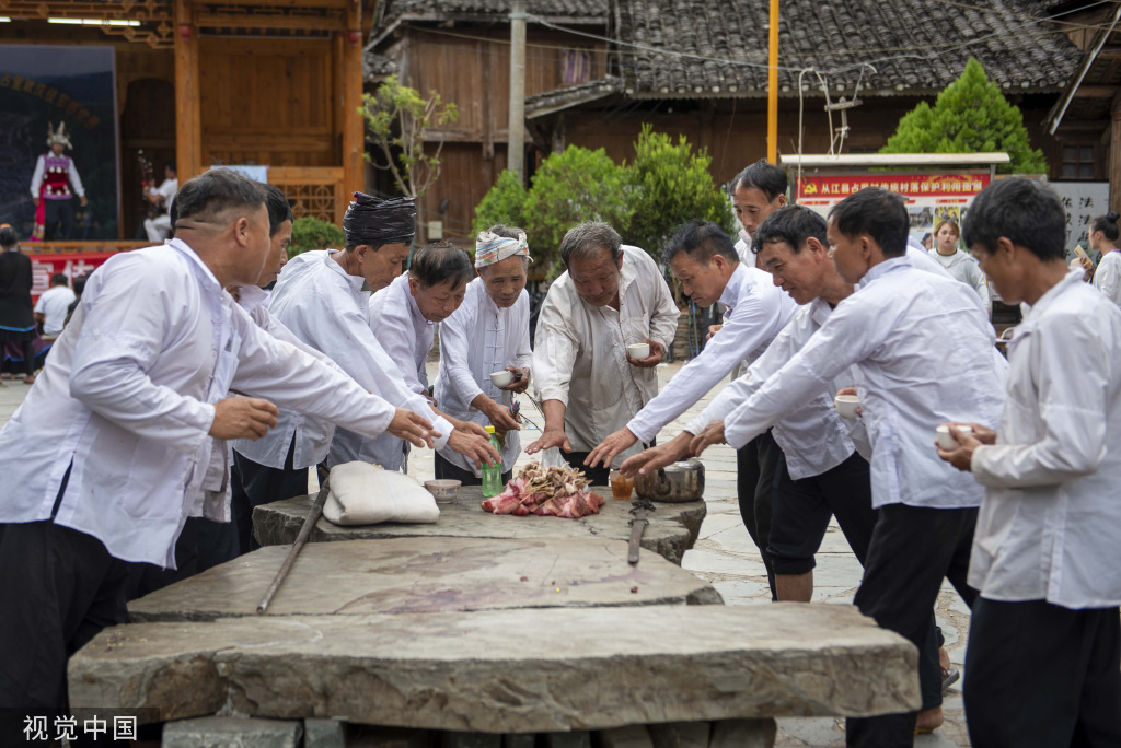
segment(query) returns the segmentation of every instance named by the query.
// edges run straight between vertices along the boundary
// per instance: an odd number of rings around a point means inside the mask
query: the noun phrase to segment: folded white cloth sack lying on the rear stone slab
[[[344,462],[331,468],[323,516],[336,525],[432,524],[439,520],[439,507],[411,476],[369,462]]]

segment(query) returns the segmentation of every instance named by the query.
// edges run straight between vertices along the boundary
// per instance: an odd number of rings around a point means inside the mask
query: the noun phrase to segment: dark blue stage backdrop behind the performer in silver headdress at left
[[[47,152],[48,122],[66,123],[90,200],[73,240],[117,239],[117,87],[113,48],[0,44],[0,223],[31,235],[31,175]]]

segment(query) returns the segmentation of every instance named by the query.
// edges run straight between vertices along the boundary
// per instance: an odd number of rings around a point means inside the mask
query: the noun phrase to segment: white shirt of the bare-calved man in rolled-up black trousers
[[[786,362],[802,350],[814,333],[825,324],[831,312],[830,305],[823,299],[814,299],[798,308],[794,318],[771,342],[766,353],[748,367],[747,374],[721,390],[708,406],[689,423],[686,431],[701,433],[710,421],[725,419],[736,408],[748,402]],[[836,391],[835,382],[826,383],[808,399],[805,405],[775,424],[771,433],[782,449],[787,469],[795,480],[832,470],[849,459],[856,449],[849,436],[849,426],[841,420],[833,406],[833,395]],[[739,448],[743,445],[734,446]]]

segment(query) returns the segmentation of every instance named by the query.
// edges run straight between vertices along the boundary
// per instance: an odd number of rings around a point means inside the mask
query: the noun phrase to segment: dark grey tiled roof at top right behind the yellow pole
[[[798,71],[827,73],[834,95],[936,92],[976,57],[1006,88],[1059,91],[1082,53],[1038,0],[782,0],[779,85],[797,95]],[[613,11],[627,93],[638,97],[762,96],[767,87],[765,0],[617,0]],[[698,59],[657,50],[687,53]],[[721,62],[732,60],[732,62]],[[757,65],[751,67],[744,63]],[[790,69],[793,68],[793,69]],[[805,77],[807,95],[818,92]],[[819,94],[818,94],[819,95]]]

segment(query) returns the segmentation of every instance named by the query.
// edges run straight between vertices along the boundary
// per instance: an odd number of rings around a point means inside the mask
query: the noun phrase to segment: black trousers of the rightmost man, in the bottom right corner
[[[1118,608],[978,598],[964,691],[974,746],[1121,746]]]

